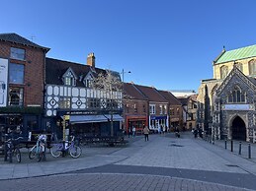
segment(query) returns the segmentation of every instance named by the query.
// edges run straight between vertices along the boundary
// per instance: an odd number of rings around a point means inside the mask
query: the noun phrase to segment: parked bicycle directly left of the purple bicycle
[[[41,161],[45,157],[45,143],[46,135],[39,135],[37,144],[31,149],[29,153],[29,159],[37,158],[38,161]]]

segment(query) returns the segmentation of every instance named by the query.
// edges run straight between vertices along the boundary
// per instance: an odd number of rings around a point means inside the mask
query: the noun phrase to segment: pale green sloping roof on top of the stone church
[[[249,58],[253,56],[256,56],[256,45],[250,45],[234,50],[224,51],[222,55],[220,55],[215,60],[214,64]]]

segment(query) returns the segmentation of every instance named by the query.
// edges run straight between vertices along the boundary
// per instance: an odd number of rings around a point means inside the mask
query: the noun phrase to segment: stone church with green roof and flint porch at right
[[[198,126],[214,139],[255,142],[255,77],[256,45],[223,49],[199,88]]]

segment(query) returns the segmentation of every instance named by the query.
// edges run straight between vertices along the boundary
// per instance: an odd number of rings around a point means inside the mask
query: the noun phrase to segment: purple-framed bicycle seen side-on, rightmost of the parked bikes
[[[68,152],[72,158],[79,158],[82,154],[82,149],[75,145],[75,137],[72,136],[71,142],[52,144],[50,154],[53,158],[58,158],[62,153]]]

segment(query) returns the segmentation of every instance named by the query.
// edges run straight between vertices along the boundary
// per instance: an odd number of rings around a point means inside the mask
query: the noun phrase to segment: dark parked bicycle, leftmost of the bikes
[[[10,138],[7,141],[5,141],[5,149],[6,149],[5,160],[9,160],[9,162],[13,162],[13,157],[15,157],[18,162],[21,162],[22,156],[19,149],[19,140],[21,139],[23,139],[23,137],[18,137],[17,139]]]

